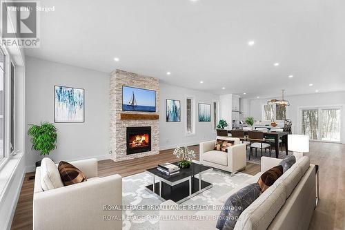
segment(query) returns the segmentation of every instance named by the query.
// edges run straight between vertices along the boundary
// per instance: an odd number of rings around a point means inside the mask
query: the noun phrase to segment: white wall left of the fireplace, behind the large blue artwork
[[[85,122],[57,123],[57,149],[50,157],[60,160],[109,158],[109,82],[110,75],[33,57],[26,57],[26,131],[28,124],[54,122],[54,86],[83,88]],[[26,166],[33,171],[40,160],[31,150],[26,135]]]

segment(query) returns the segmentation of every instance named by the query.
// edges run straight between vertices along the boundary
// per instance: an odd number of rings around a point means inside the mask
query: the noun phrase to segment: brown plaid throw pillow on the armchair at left
[[[57,169],[65,186],[86,181],[84,173],[68,162],[61,161]]]

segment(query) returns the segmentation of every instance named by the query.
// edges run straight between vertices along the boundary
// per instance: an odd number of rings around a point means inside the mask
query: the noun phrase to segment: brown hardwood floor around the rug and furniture
[[[344,229],[345,217],[345,145],[311,142],[312,164],[319,164],[320,200],[315,209],[310,229]],[[199,159],[199,146],[190,146]],[[161,162],[174,162],[172,150],[161,151],[159,155],[142,157],[124,162],[99,161],[99,176],[120,174],[122,177],[141,173]],[[258,164],[247,163],[244,173],[255,175],[260,171]],[[32,229],[32,197],[34,181],[28,180],[34,173],[26,173],[21,188],[12,229]]]

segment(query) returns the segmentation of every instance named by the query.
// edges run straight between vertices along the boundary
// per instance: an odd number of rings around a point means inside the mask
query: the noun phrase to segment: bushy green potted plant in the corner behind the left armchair
[[[55,124],[41,122],[40,125],[29,124],[28,135],[31,137],[31,150],[39,151],[39,155],[49,155],[57,148],[57,128]],[[36,162],[36,166],[41,166],[41,160]]]

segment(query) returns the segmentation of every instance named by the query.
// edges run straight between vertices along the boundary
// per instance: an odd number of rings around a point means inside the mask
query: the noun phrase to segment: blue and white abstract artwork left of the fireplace
[[[84,90],[55,86],[55,122],[84,122]]]

